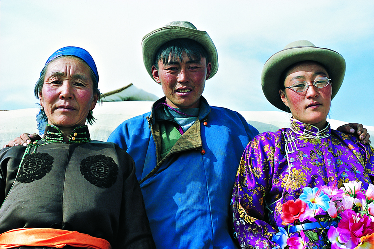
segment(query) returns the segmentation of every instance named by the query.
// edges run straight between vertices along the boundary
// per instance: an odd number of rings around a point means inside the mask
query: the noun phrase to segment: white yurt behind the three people
[[[96,122],[89,130],[92,140],[106,141],[110,133],[123,121],[134,116],[149,112],[155,100],[159,97],[129,84],[120,89],[105,93],[103,103],[97,104],[93,110]],[[37,130],[36,114],[38,108],[0,111],[0,146],[20,136],[22,133],[39,133]],[[276,131],[289,127],[291,114],[282,111],[238,111],[249,124],[260,133]],[[333,129],[347,124],[345,121],[328,119]],[[374,144],[374,127],[365,126],[370,141]]]

